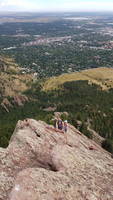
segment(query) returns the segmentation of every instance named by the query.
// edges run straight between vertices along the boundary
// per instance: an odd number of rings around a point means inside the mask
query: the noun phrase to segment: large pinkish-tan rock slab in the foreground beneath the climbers
[[[19,121],[0,149],[0,200],[112,200],[113,159],[73,126]]]

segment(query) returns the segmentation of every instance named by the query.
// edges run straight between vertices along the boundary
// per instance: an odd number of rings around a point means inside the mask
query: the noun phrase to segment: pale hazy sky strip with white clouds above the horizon
[[[0,0],[0,11],[113,11],[113,0]]]

